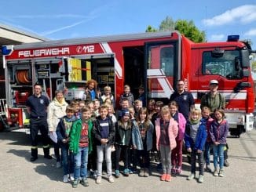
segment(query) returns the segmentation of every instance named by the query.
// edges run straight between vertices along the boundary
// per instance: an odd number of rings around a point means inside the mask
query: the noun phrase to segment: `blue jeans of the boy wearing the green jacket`
[[[74,178],[75,180],[79,177],[87,177],[87,163],[88,163],[88,147],[79,147],[79,151],[74,155],[75,159],[75,170]]]

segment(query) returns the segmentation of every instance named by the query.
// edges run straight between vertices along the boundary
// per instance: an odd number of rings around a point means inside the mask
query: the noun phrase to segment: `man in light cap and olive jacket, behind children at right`
[[[203,107],[209,107],[211,116],[214,118],[214,110],[216,109],[225,109],[225,98],[221,96],[221,93],[218,92],[218,81],[213,79],[210,80],[210,92],[207,92],[206,95],[202,96],[201,99],[201,109]],[[228,162],[228,144],[226,145],[226,150],[224,151],[224,165],[229,166]]]

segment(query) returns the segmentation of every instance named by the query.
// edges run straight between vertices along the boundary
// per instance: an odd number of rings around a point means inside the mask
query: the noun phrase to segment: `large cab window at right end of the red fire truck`
[[[218,74],[228,79],[240,79],[240,52],[226,50],[221,56],[214,56],[211,52],[203,53],[203,74]]]

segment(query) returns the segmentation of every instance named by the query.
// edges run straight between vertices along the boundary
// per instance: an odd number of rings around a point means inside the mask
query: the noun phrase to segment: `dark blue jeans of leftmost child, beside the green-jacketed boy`
[[[61,159],[64,175],[74,173],[74,154],[68,150],[68,144],[61,145]]]

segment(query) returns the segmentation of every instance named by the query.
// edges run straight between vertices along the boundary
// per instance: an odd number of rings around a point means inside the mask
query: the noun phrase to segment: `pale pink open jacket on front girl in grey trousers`
[[[161,133],[160,119],[161,118],[157,118],[155,120],[156,149],[157,150],[159,150],[159,140],[160,140],[160,133]],[[169,140],[170,140],[170,150],[173,150],[177,146],[176,139],[175,139],[177,137],[177,132],[178,132],[177,122],[173,118],[170,118],[169,129],[168,129],[168,136],[169,136]]]

